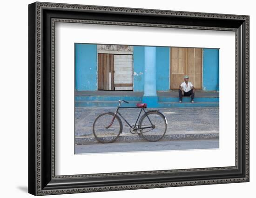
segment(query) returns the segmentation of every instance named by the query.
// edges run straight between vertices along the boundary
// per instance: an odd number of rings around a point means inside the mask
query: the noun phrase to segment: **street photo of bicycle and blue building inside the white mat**
[[[219,148],[219,49],[75,43],[74,59],[75,154]]]

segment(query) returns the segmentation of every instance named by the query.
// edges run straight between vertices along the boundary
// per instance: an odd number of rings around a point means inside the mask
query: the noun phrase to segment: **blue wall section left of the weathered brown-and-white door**
[[[75,89],[97,90],[97,45],[75,44]]]

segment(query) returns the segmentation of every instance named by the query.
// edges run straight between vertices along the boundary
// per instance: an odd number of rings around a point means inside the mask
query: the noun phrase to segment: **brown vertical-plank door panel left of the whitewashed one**
[[[114,54],[98,53],[98,89],[114,90]]]

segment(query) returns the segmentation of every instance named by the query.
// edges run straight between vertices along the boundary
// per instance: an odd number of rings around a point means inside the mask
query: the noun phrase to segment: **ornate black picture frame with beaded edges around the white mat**
[[[249,16],[35,2],[28,6],[28,192],[33,195],[249,182]],[[93,23],[236,33],[236,165],[55,176],[54,24]]]

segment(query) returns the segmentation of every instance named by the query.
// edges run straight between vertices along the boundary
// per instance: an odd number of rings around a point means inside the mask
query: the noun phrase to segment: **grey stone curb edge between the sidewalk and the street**
[[[192,134],[170,134],[164,135],[160,141],[184,141],[184,140],[202,140],[202,139],[219,139],[218,133],[192,133]],[[148,142],[140,135],[119,136],[115,142]],[[75,145],[95,144],[98,141],[94,137],[75,138]]]

